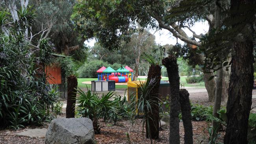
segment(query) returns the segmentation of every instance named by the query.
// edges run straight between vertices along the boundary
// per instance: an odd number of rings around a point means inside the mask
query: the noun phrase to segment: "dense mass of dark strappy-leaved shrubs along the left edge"
[[[45,83],[45,73],[37,65],[50,63],[48,42],[40,41],[38,57],[24,57],[30,54],[29,46],[15,40],[0,48],[1,127],[19,129],[28,124],[41,124],[52,111],[58,93]]]

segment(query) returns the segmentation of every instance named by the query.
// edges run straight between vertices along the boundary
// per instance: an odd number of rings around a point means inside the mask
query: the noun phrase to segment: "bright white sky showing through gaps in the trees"
[[[193,27],[191,27],[191,29],[193,31],[195,31],[195,33],[197,35],[199,34],[204,34],[208,31],[209,29],[209,25],[208,25],[208,22],[205,21],[205,22],[196,22],[194,24]],[[193,36],[193,33],[191,31],[189,31],[187,28],[184,28],[183,29],[187,35],[189,37],[192,37]],[[151,33],[154,33],[155,31],[150,31]],[[160,45],[165,45],[165,44],[173,44],[175,45],[177,40],[175,37],[173,37],[173,35],[171,34],[171,32],[169,32],[168,30],[165,30],[165,29],[162,29],[162,30],[159,30],[157,31],[156,33],[154,33],[155,37],[156,37],[156,43],[157,44],[160,44]],[[88,46],[94,46],[94,43],[95,43],[95,39],[90,39],[89,41],[85,41],[85,44],[87,44]],[[178,42],[183,44],[184,42],[182,42],[180,39],[178,39]]]

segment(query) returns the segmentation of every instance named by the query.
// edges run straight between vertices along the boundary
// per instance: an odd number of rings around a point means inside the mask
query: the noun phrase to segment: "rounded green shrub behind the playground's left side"
[[[85,63],[82,65],[77,73],[79,78],[97,78],[96,71],[100,69],[102,66],[107,67],[108,63],[100,60],[93,60],[89,63]]]

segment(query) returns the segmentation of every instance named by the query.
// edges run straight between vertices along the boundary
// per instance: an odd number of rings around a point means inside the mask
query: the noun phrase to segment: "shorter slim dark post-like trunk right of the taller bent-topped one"
[[[192,116],[191,106],[189,103],[189,93],[186,89],[180,90],[180,108],[182,114],[182,121],[184,126],[184,143],[193,144],[193,127],[192,127]]]

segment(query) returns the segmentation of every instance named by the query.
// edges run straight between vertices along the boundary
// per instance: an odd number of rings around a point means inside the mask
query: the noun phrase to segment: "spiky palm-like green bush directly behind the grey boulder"
[[[100,97],[89,89],[87,92],[83,92],[83,90],[78,88],[77,94],[78,113],[82,117],[90,118],[93,121],[95,134],[100,133],[98,120],[100,118],[107,120],[113,113],[118,112],[119,103],[116,100],[111,100],[114,96],[113,91],[102,94]]]

